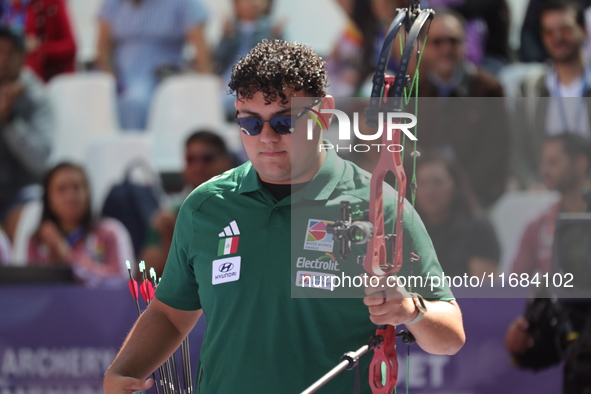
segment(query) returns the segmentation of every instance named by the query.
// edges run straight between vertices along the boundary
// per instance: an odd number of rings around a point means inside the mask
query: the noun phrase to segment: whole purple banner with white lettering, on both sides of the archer
[[[525,300],[459,303],[466,345],[455,356],[413,345],[407,358],[400,344],[399,390],[409,364],[413,394],[560,393],[560,367],[536,374],[510,365],[503,340]],[[127,289],[0,287],[0,394],[102,393],[104,371],[136,317]],[[204,330],[200,322],[190,336],[193,368]]]

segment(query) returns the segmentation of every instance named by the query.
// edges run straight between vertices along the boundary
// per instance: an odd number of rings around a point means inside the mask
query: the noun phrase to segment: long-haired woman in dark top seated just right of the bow
[[[446,275],[495,273],[500,246],[456,162],[438,155],[417,161],[416,209],[431,236]]]

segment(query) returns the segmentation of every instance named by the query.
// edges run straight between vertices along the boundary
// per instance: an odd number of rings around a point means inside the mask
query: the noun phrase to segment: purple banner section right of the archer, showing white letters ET
[[[524,299],[458,299],[464,318],[466,344],[454,356],[434,356],[411,346],[398,346],[398,390],[412,394],[557,394],[562,369],[534,373],[510,363],[504,339],[511,322],[523,312]]]

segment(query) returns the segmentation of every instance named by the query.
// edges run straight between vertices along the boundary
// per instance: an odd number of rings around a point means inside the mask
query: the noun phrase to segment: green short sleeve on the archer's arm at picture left
[[[185,203],[175,224],[162,281],[156,289],[156,298],[172,308],[185,311],[201,309],[199,285],[192,265],[192,239],[193,209]]]

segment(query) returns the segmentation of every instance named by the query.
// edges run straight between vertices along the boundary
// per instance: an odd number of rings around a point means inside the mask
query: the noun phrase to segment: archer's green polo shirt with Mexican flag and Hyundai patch
[[[387,228],[395,191],[387,188]],[[277,201],[250,163],[212,179],[185,201],[156,297],[181,310],[203,309],[207,330],[196,392],[300,393],[375,332],[360,298],[362,288],[307,287],[315,277],[363,273],[326,233],[341,201],[368,206],[368,173],[328,152],[314,179]],[[405,208],[404,264],[400,275],[441,275],[433,245],[412,207]],[[415,215],[412,218],[412,215]],[[413,223],[414,222],[414,223]],[[411,233],[412,230],[412,233]],[[410,263],[410,250],[420,256]],[[307,278],[307,279],[306,279]],[[320,281],[317,283],[319,284]],[[329,282],[330,283],[330,282]],[[448,288],[417,290],[451,300]],[[319,393],[370,393],[368,364],[344,372]]]

